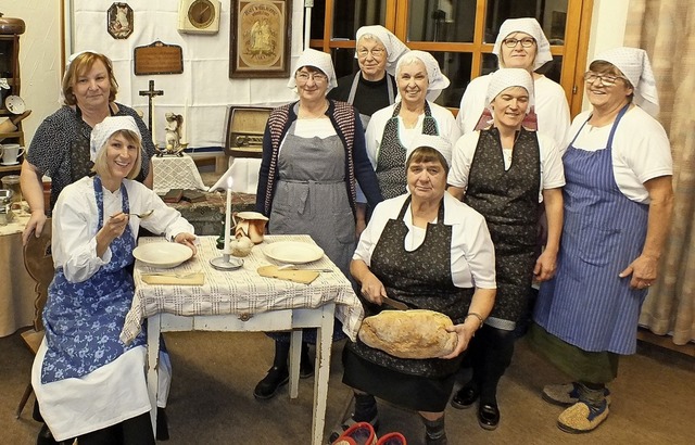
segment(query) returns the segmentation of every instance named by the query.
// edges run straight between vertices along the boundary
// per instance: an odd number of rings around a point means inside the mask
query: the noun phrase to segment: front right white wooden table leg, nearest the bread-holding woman
[[[334,303],[323,306],[321,326],[316,332],[316,374],[314,377],[314,419],[312,420],[312,444],[324,440],[326,404],[328,400],[328,377],[330,374],[330,347],[333,334]]]

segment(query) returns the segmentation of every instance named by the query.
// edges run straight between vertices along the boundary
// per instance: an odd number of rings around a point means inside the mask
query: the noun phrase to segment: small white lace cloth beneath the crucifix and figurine
[[[207,190],[200,177],[200,171],[188,154],[182,156],[154,156],[153,189],[156,193],[166,193],[169,189],[199,189]]]

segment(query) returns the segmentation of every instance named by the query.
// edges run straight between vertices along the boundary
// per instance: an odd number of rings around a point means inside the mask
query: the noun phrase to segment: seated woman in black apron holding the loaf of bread
[[[417,410],[426,443],[445,444],[444,408],[462,353],[494,304],[494,247],[482,215],[445,192],[451,144],[421,135],[412,147],[408,193],[376,207],[350,270],[371,303],[365,305],[367,315],[380,310],[388,295],[451,317],[448,330],[458,343],[443,358],[417,360],[395,358],[361,341],[348,343],[343,382],[354,389],[355,412],[342,429],[361,421],[376,427],[376,396]]]

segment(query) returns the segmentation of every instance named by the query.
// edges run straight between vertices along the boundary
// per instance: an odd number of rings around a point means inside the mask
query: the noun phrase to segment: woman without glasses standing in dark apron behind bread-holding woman
[[[533,105],[533,80],[521,68],[490,76],[485,102],[494,118],[486,129],[464,135],[454,148],[448,192],[480,212],[495,245],[495,307],[471,342],[472,378],[452,398],[468,408],[478,398],[478,423],[500,423],[497,384],[511,361],[517,321],[526,314],[532,279],[555,272],[563,228],[563,162],[555,140],[522,126]],[[545,205],[547,244],[536,253],[536,220]]]

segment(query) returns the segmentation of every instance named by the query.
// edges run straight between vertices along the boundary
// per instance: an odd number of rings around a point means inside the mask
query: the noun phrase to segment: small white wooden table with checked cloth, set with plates
[[[364,317],[362,304],[350,281],[324,256],[312,268],[330,268],[311,284],[300,284],[258,276],[256,269],[278,264],[267,258],[264,244],[279,241],[313,243],[308,236],[266,237],[244,258],[242,268],[218,271],[210,259],[220,255],[215,237],[200,237],[198,255],[184,265],[166,271],[190,274],[202,271],[203,285],[150,285],[142,282],[142,274],[156,269],[136,263],[136,293],[126,317],[121,339],[130,341],[148,319],[148,389],[152,403],[152,427],[156,425],[156,392],[160,333],[167,331],[286,331],[291,330],[290,397],[299,393],[300,344],[303,328],[317,328],[314,381],[314,418],[312,444],[323,442],[330,372],[333,316],[343,322],[343,330],[355,340]],[[163,242],[159,238],[143,238],[143,242]]]

